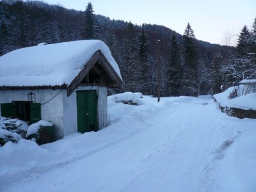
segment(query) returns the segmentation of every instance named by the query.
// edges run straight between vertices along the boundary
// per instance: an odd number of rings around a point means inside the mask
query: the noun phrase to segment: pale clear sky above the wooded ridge
[[[46,0],[65,8],[85,10],[87,0]],[[91,0],[95,14],[141,25],[159,24],[183,34],[191,24],[195,36],[213,44],[222,44],[225,33],[240,33],[252,26],[256,0]]]

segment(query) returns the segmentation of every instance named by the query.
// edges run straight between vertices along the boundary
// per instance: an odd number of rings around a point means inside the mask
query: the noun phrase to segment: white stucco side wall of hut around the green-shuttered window
[[[1,90],[0,104],[13,100],[28,100],[28,93],[36,95],[36,102],[41,103],[41,118],[52,122],[56,127],[56,137],[63,137],[63,93],[61,90]],[[58,94],[56,97],[54,97]],[[54,99],[52,99],[54,97]],[[52,100],[50,100],[52,99]],[[50,100],[49,102],[47,102]],[[44,104],[44,102],[47,102]],[[1,110],[0,110],[1,115]]]

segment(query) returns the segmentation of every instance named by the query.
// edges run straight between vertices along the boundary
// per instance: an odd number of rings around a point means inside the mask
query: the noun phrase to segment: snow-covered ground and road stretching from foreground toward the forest
[[[256,191],[256,120],[209,96],[109,97],[111,125],[0,148],[0,191]]]

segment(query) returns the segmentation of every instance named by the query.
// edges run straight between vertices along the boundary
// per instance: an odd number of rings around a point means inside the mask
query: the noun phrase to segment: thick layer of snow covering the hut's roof
[[[0,86],[70,84],[100,50],[122,79],[109,48],[100,40],[81,40],[26,47],[0,57]]]

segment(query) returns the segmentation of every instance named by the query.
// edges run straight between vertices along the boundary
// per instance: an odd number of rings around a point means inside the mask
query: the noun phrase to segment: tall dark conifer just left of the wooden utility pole
[[[148,35],[145,32],[144,26],[142,25],[141,31],[138,34],[138,57],[140,60],[140,78],[141,86],[145,83],[150,82],[149,70],[150,70],[150,45],[148,40]],[[149,94],[146,90],[141,90],[145,94]],[[147,92],[147,93],[146,93]]]

